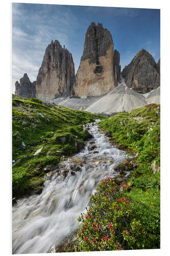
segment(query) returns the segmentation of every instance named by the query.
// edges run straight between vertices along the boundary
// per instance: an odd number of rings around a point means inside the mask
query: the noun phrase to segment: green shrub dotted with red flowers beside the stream
[[[123,191],[109,178],[102,181],[91,196],[86,214],[78,231],[76,251],[142,249],[145,228],[135,218],[135,207]],[[125,187],[124,187],[125,186]]]

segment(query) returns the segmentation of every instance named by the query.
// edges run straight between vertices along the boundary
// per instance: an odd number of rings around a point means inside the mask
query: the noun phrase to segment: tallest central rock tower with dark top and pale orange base
[[[100,96],[115,87],[113,55],[110,32],[102,24],[96,26],[92,22],[85,35],[83,55],[76,75],[76,96]]]

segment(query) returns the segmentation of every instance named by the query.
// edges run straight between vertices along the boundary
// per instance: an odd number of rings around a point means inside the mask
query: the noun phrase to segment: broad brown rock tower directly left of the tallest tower
[[[52,100],[74,94],[75,65],[58,40],[47,46],[36,81],[36,98]]]

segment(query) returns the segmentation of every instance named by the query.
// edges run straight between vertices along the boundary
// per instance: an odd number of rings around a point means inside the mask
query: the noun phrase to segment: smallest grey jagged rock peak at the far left
[[[31,82],[27,73],[20,78],[20,83],[15,82],[15,95],[19,95],[25,98],[35,98],[36,94],[36,81]]]

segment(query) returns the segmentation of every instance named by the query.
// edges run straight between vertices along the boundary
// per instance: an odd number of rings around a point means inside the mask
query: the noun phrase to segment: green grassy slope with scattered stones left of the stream
[[[13,196],[38,193],[44,182],[44,167],[55,166],[62,155],[77,153],[76,136],[80,141],[86,140],[83,124],[99,118],[102,117],[13,95]],[[65,136],[65,143],[61,136]]]

